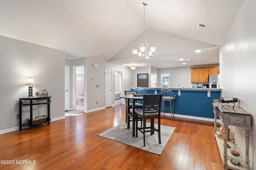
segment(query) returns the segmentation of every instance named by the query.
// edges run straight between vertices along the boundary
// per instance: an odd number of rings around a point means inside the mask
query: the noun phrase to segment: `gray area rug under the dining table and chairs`
[[[150,123],[147,123],[147,126],[149,124]],[[157,127],[157,124],[155,124],[155,127]],[[143,146],[143,134],[140,131],[138,131],[138,137],[132,137],[132,123],[130,123],[130,129],[127,129],[126,123],[121,123],[120,125],[100,133],[98,136],[160,155],[170,139],[174,129],[175,127],[161,125],[161,144],[158,143],[157,132],[155,132],[154,135],[150,135],[150,132],[146,133],[146,147]]]

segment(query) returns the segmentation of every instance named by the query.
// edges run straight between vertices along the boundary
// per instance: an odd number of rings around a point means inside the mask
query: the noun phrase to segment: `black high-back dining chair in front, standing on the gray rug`
[[[143,126],[138,127],[136,121],[136,137],[138,137],[138,131],[143,133],[143,142],[145,145],[145,133],[150,132],[153,135],[155,131],[158,132],[158,142],[161,144],[161,133],[160,133],[160,120],[161,120],[161,100],[162,94],[144,94],[143,95],[143,108],[135,111],[136,119],[143,119]],[[150,119],[150,126],[146,127],[146,120]],[[154,127],[154,119],[158,119],[158,129]],[[149,129],[149,130],[147,130]]]

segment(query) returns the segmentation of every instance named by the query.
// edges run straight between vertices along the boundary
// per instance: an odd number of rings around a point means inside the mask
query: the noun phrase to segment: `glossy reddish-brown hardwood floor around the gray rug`
[[[98,136],[124,121],[125,106],[120,104],[68,116],[52,121],[50,126],[34,127],[32,131],[26,128],[2,134],[0,160],[14,160],[11,162],[14,164],[0,164],[0,169],[222,169],[213,122],[163,117],[162,125],[176,129],[162,154],[157,155]]]

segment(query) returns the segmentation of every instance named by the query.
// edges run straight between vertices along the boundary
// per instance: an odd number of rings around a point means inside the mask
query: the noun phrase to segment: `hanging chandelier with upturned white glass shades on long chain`
[[[142,60],[145,58],[150,60],[156,51],[156,47],[150,47],[150,51],[148,51],[148,43],[146,43],[146,35],[145,35],[145,6],[147,6],[147,4],[145,2],[143,2],[142,4],[144,5],[144,27],[143,27],[144,41],[142,44],[139,45],[140,51],[138,52],[138,49],[133,49],[132,54],[136,57],[136,59]]]

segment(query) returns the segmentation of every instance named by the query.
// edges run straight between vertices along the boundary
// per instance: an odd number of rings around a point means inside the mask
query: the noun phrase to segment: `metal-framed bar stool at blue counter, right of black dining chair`
[[[162,88],[161,94],[162,94],[162,113],[167,113],[165,110],[170,110],[171,116],[174,117],[174,100],[176,98],[176,93],[174,94],[172,93],[172,88],[171,89]],[[168,102],[170,102],[170,106]]]

